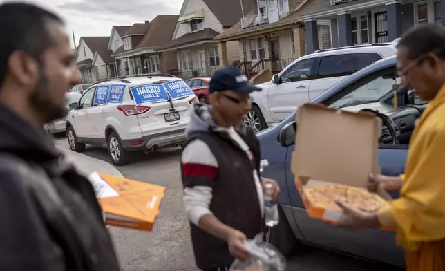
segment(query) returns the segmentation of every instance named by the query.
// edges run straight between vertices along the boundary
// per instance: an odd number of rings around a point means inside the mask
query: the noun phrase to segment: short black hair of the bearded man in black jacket
[[[46,27],[51,20],[63,24],[54,13],[29,3],[0,5],[0,86],[8,73],[8,59],[15,51],[41,62],[41,54],[53,43]]]

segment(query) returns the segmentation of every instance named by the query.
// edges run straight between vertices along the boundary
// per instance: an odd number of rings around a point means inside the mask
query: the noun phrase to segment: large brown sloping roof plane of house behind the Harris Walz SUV
[[[150,22],[148,32],[140,43],[135,46],[138,48],[153,48],[162,46],[171,41],[171,36],[176,27],[178,15],[158,15]]]

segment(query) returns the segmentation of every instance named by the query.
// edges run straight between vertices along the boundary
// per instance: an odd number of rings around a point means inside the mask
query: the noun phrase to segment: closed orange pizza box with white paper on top
[[[106,224],[150,231],[165,187],[93,172],[88,176],[106,216]]]

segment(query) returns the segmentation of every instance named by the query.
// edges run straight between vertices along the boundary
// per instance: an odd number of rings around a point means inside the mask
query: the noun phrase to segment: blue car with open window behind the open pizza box
[[[393,105],[395,93],[397,109]],[[395,57],[379,60],[350,75],[314,98],[312,103],[347,111],[370,111],[381,118],[383,131],[379,139],[379,165],[381,173],[388,176],[404,172],[415,120],[428,105],[419,100],[414,91],[400,85]],[[262,176],[273,178],[281,187],[281,221],[278,226],[270,228],[270,242],[283,254],[288,254],[296,243],[302,242],[404,267],[404,254],[401,247],[395,245],[394,232],[377,229],[350,232],[307,216],[290,170],[298,129],[295,114],[258,133],[262,158],[269,162]],[[326,140],[329,140],[328,127]],[[397,198],[399,194],[392,196]]]

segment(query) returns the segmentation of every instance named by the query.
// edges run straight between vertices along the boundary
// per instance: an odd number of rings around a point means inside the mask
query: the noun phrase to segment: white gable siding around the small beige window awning
[[[183,12],[179,15],[179,17],[183,17],[184,15],[187,15],[189,13],[193,13],[196,10],[204,9],[204,21],[202,21],[202,28],[212,28],[216,32],[223,32],[223,25],[220,24],[218,19],[216,19],[215,15],[209,7],[204,3],[202,0],[184,0],[185,8]],[[175,32],[173,33],[173,39],[178,39],[178,37],[181,37],[184,34],[187,34],[190,32],[190,24],[184,23],[184,24],[177,24]]]

